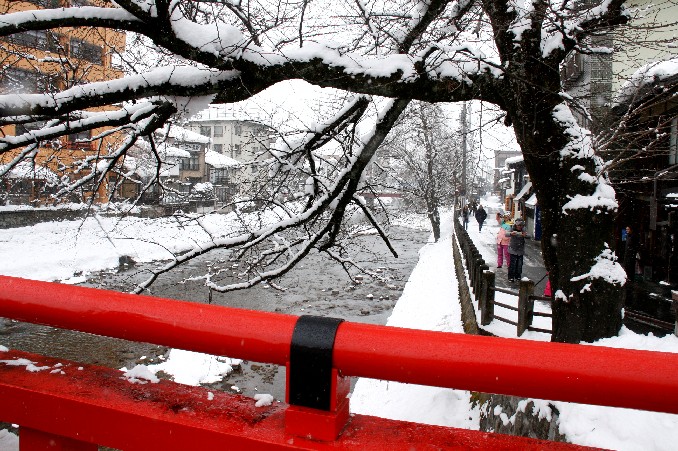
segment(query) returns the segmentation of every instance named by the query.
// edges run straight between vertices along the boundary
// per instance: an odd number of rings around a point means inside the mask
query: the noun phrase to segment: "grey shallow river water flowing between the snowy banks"
[[[211,303],[228,307],[301,315],[332,316],[349,321],[385,324],[412,269],[428,231],[393,227],[391,242],[399,258],[391,256],[376,235],[356,237],[355,260],[368,270],[386,277],[386,282],[363,276],[349,278],[336,263],[311,254],[277,282],[284,291],[268,285],[230,293],[212,292],[201,281],[188,280],[205,272],[205,266],[229,265],[227,253],[209,254],[163,275],[150,294],[170,299]],[[150,265],[149,265],[150,266]],[[143,280],[149,266],[111,270],[92,275],[84,284],[108,290],[126,291]],[[237,273],[238,268],[232,268]],[[148,343],[101,337],[92,334],[38,326],[0,318],[0,345],[10,349],[48,355],[112,368],[163,361],[168,349]],[[237,357],[237,356],[229,356]],[[284,400],[285,368],[243,361],[239,367],[211,388],[253,396],[270,393]]]

